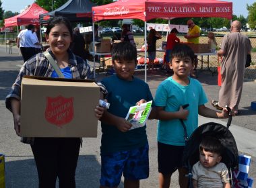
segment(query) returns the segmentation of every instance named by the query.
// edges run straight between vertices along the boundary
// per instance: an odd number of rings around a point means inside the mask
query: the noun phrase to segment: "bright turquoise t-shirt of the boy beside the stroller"
[[[156,90],[155,104],[165,111],[179,111],[181,105],[189,104],[189,115],[184,123],[187,135],[198,126],[198,107],[207,103],[201,83],[189,78],[189,85],[183,86],[169,77]],[[184,129],[179,119],[158,122],[158,142],[173,146],[185,146]]]

